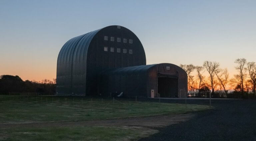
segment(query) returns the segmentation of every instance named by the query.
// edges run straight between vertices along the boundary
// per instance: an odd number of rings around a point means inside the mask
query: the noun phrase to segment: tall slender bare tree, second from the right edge
[[[235,61],[235,63],[237,64],[235,69],[238,70],[238,75],[236,77],[239,78],[239,81],[241,84],[242,95],[244,94],[244,79],[246,77],[246,71],[247,71],[247,68],[245,68],[246,62],[247,61],[244,58],[237,59]]]

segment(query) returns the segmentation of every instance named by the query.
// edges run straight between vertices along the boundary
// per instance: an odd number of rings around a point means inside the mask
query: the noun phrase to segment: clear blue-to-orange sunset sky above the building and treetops
[[[255,0],[0,0],[0,75],[56,78],[71,38],[109,25],[140,39],[147,64],[256,62]]]

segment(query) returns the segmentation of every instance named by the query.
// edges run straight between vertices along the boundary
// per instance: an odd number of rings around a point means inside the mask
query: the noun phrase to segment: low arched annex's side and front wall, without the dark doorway
[[[170,67],[169,70],[166,69],[167,66]],[[176,95],[181,89],[187,91],[187,73],[179,66],[162,63],[103,71],[99,76],[101,78],[101,83],[99,84],[100,92],[103,95],[124,92],[126,97],[151,97],[150,91],[154,89],[156,96],[158,92],[158,77],[161,77],[159,75],[178,79]]]

